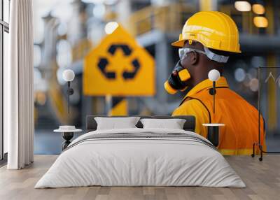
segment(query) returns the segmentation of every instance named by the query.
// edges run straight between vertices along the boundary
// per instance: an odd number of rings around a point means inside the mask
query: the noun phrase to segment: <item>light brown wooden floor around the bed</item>
[[[280,155],[262,162],[248,156],[226,157],[247,187],[71,187],[34,189],[57,156],[35,156],[34,164],[19,171],[0,169],[0,199],[280,199]]]

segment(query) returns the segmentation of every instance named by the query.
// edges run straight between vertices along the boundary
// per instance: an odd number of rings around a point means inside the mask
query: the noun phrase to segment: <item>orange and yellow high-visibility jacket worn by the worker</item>
[[[253,143],[258,142],[258,110],[245,99],[230,90],[224,77],[216,82],[215,114],[213,96],[209,90],[213,87],[207,79],[193,87],[172,115],[194,115],[195,132],[207,137],[204,123],[223,123],[220,127],[218,150],[223,155],[251,155]],[[260,141],[265,145],[263,119],[260,119]]]

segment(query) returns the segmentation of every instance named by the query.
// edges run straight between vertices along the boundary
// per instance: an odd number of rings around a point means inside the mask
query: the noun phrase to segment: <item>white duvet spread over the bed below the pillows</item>
[[[246,187],[224,157],[209,145],[181,138],[106,138],[80,140],[92,134],[183,133],[178,129],[92,131],[62,152],[35,188],[102,186]]]

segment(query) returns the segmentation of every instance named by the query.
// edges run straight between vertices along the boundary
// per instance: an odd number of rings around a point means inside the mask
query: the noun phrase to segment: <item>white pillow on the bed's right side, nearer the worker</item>
[[[186,120],[183,119],[141,119],[144,129],[183,129]]]

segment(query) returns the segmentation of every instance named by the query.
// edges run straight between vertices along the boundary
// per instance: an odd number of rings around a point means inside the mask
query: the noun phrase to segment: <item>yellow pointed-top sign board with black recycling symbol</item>
[[[118,26],[85,57],[83,93],[96,96],[154,95],[154,59],[123,27]]]

